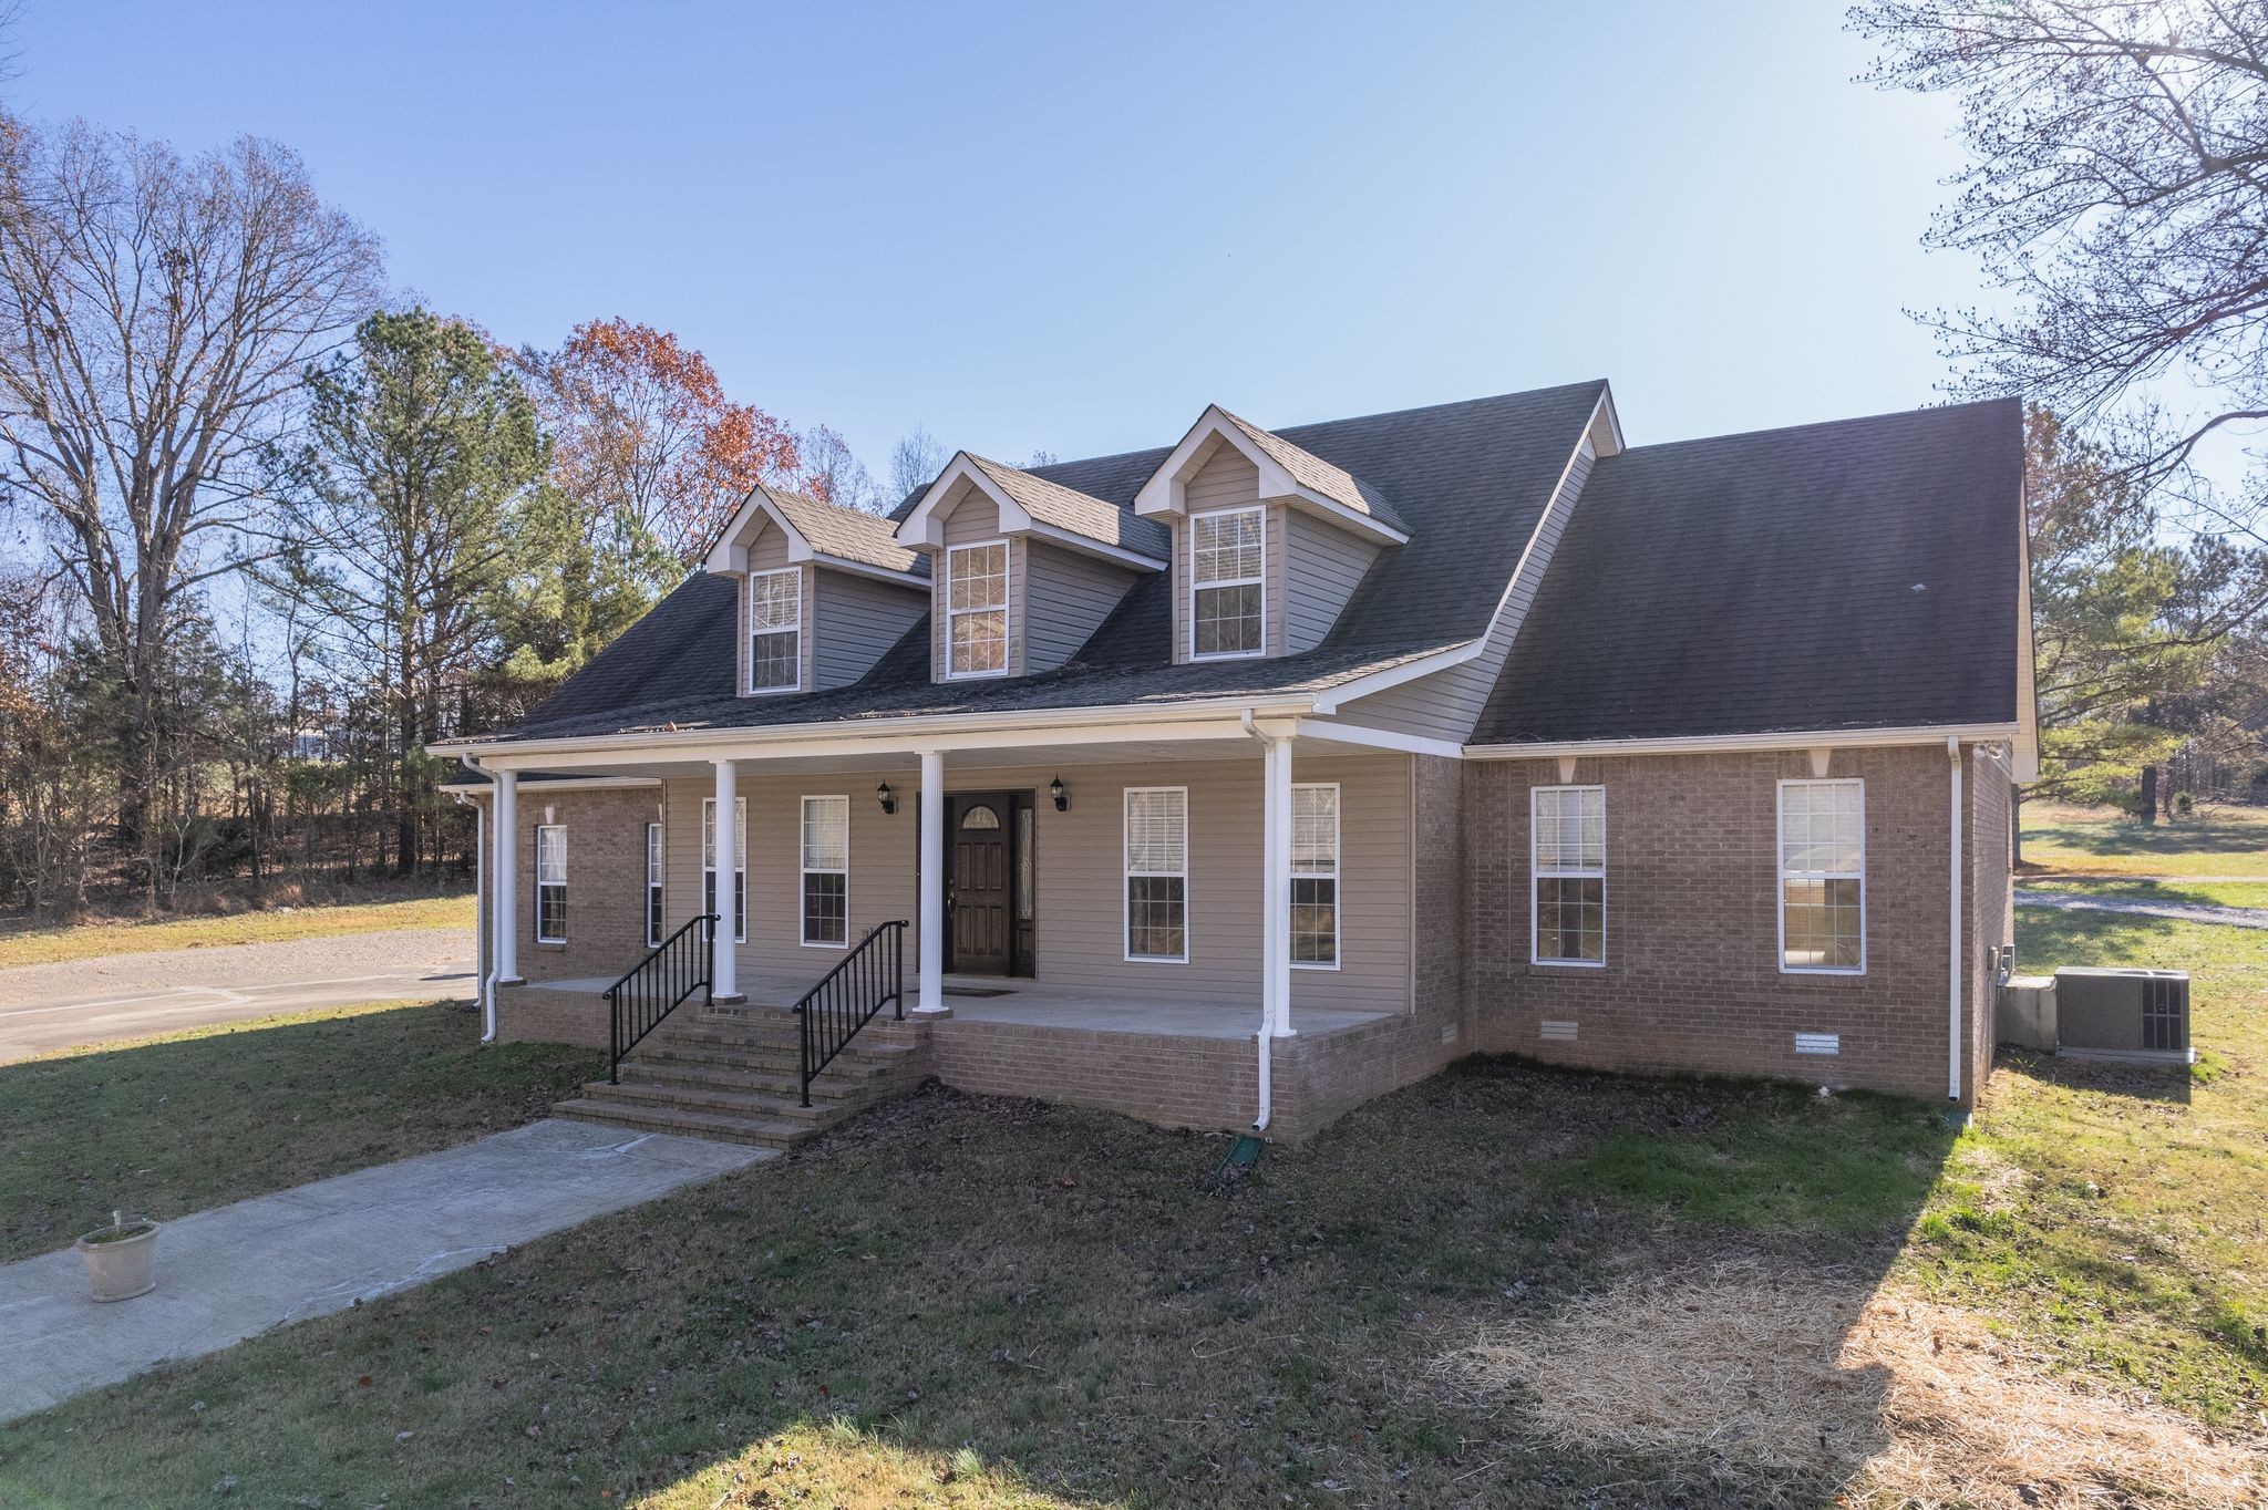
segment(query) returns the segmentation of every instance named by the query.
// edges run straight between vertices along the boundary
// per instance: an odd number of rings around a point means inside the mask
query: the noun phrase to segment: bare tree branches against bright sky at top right
[[[2268,419],[2268,7],[1898,0],[1851,20],[1885,48],[1878,84],[1962,102],[1975,161],[1928,240],[2014,308],[1926,320],[1978,388],[2123,419],[2143,481]],[[2161,415],[2139,395],[2166,376],[2211,397]]]

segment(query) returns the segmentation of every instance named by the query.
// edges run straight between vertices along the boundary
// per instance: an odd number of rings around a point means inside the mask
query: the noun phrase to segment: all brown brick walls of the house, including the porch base
[[[1352,1032],[1277,1041],[1268,1136],[1297,1140],[1470,1052],[1606,1070],[1724,1072],[1946,1095],[1946,805],[1941,746],[1835,750],[1828,775],[1867,782],[1867,973],[1778,970],[1778,780],[1808,753],[1576,762],[1606,787],[1606,968],[1529,964],[1529,787],[1558,762],[1408,762],[1413,1009]],[[1991,1050],[1991,955],[2012,939],[2009,787],[1964,764],[1964,1100]],[[501,1038],[606,1045],[592,993],[540,982],[612,975],[644,948],[644,825],[655,791],[522,791],[522,975]],[[533,832],[567,825],[567,943],[533,939]],[[1978,1011],[1978,1004],[1984,1004]],[[1576,1023],[1547,1041],[1540,1025]],[[1177,1038],[946,1020],[869,1032],[919,1045],[921,1068],[982,1095],[1102,1106],[1168,1127],[1243,1129],[1259,1109],[1250,1036]],[[1842,1052],[1794,1052],[1794,1034]]]

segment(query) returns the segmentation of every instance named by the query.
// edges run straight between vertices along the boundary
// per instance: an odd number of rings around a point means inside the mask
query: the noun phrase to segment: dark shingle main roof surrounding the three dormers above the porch
[[[753,728],[889,714],[1055,710],[1322,689],[1476,639],[1590,422],[1603,381],[1275,431],[1395,501],[1411,542],[1388,546],[1338,626],[1302,655],[1173,664],[1170,574],[1145,576],[1070,664],[1036,676],[930,682],[928,619],[853,687],[735,696],[737,583],[694,576],[535,710],[510,737],[665,723]],[[1032,467],[1027,476],[1132,517],[1170,447]],[[914,499],[898,506],[896,519]],[[1141,521],[1152,524],[1152,521]]]

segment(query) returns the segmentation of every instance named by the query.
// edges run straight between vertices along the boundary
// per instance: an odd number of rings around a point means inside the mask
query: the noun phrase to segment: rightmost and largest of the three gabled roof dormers
[[[1313,651],[1379,551],[1408,544],[1377,487],[1218,404],[1134,512],[1173,531],[1177,662]]]

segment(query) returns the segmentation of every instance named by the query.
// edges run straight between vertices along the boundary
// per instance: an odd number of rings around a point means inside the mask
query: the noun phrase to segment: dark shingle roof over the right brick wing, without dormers
[[[1601,458],[1474,744],[2009,723],[2016,399]]]

